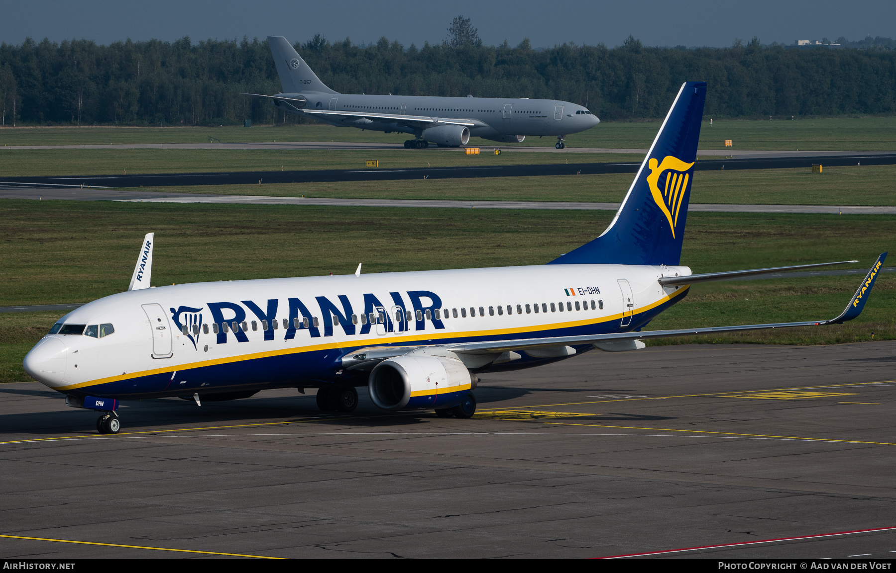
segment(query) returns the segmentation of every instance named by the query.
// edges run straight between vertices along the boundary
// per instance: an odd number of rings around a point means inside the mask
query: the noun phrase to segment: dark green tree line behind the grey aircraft
[[[662,117],[683,81],[706,80],[714,117],[896,112],[896,51],[879,45],[797,50],[754,38],[725,48],[650,47],[629,37],[613,48],[533,49],[528,39],[405,47],[318,35],[296,49],[341,93],[555,98],[604,120],[631,120]],[[267,40],[257,38],[0,44],[4,126],[301,122],[240,95],[279,91]]]

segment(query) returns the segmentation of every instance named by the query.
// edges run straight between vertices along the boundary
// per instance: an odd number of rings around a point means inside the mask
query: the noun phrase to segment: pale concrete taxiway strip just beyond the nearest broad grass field
[[[85,201],[122,201],[130,203],[238,203],[246,205],[320,205],[320,206],[375,206],[426,207],[460,209],[584,209],[616,211],[618,203],[582,201],[458,201],[447,199],[365,199],[267,197],[263,195],[205,195],[201,193],[165,193],[159,191],[129,191],[112,189],[81,189],[77,187],[34,188],[28,186],[0,186],[0,198],[8,199],[65,199]],[[863,205],[737,205],[692,203],[688,212],[710,213],[814,213],[838,215],[896,215],[896,206]]]

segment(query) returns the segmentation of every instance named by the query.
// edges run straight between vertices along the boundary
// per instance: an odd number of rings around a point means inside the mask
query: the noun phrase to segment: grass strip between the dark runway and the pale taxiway
[[[622,201],[630,173],[549,175],[484,179],[337,181],[131,189],[159,193],[262,195],[272,197],[457,199],[464,201]],[[694,176],[692,203],[736,205],[896,205],[896,165],[809,169],[701,171]]]

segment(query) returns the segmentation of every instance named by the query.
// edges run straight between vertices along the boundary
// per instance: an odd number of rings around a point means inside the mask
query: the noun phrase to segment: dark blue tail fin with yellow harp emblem
[[[613,222],[548,265],[678,265],[705,101],[706,82],[682,84]]]

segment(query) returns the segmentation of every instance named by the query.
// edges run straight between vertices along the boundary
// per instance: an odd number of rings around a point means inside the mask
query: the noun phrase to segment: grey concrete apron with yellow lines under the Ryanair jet
[[[366,392],[323,416],[280,390],[127,403],[114,437],[3,384],[0,552],[890,559],[894,360],[893,341],[594,351],[483,375],[470,420]]]

